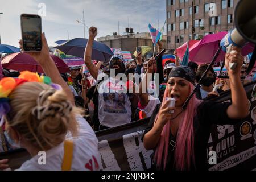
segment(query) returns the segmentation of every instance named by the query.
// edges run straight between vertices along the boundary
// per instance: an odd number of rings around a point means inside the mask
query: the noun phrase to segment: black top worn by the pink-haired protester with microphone
[[[240,120],[229,119],[226,111],[231,105],[230,102],[210,102],[204,101],[197,107],[197,114],[194,117],[193,127],[194,127],[194,152],[195,152],[195,164],[191,162],[191,168],[187,170],[208,170],[208,161],[207,161],[207,143],[210,137],[210,129],[213,125],[227,125],[234,124]],[[153,114],[151,115],[150,122],[148,127],[144,131],[146,134],[152,129],[155,122],[156,114],[160,109],[161,104],[157,105]],[[144,136],[143,136],[144,137]],[[143,138],[142,138],[143,140]],[[174,151],[175,151],[175,142],[176,136],[173,136],[170,132],[169,139],[169,150],[166,164],[166,171],[174,170]],[[155,151],[155,150],[154,150]],[[154,156],[154,154],[152,154]],[[153,159],[151,157],[151,159]],[[154,170],[163,170],[163,167],[156,168],[154,160],[152,160],[151,169]]]

